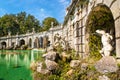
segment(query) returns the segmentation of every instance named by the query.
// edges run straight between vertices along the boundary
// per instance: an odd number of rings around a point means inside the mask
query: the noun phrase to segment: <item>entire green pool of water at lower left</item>
[[[41,55],[33,50],[0,50],[0,80],[33,80],[30,63]]]

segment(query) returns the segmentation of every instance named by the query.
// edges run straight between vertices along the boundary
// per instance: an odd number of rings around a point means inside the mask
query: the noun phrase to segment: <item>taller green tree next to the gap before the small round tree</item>
[[[32,28],[35,28],[36,32],[39,32],[41,29],[39,21],[31,14],[27,15],[25,12],[18,13],[17,21],[21,34],[25,34],[27,30],[32,32]]]

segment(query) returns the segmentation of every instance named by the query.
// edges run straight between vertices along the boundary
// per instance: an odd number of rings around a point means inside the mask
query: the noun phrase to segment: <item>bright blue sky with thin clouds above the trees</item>
[[[0,16],[25,11],[40,22],[50,16],[63,22],[66,7],[71,0],[0,0]]]

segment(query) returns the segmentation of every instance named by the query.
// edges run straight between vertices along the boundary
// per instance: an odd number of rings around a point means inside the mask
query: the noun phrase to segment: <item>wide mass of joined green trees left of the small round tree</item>
[[[0,36],[8,35],[8,31],[11,35],[25,34],[28,30],[32,32],[32,28],[35,31],[40,31],[39,21],[31,14],[26,12],[20,12],[18,14],[6,14],[0,18]]]

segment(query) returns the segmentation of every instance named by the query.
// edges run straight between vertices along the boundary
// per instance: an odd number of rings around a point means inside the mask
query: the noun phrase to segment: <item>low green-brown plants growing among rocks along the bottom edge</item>
[[[91,58],[92,59],[92,58]],[[59,59],[57,63],[59,64],[59,69],[52,71],[52,74],[43,75],[40,73],[35,74],[36,79],[34,80],[98,80],[99,76],[103,76],[95,69],[95,61],[91,63],[89,61],[83,60],[82,63],[88,64],[86,68],[82,69],[81,66],[76,68],[71,68],[69,62],[64,62],[63,60]],[[68,75],[67,72],[73,69],[73,72]],[[120,79],[120,70],[114,73],[104,74],[108,76],[111,80],[119,80]]]

